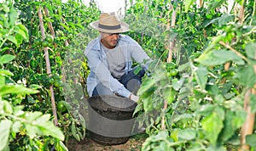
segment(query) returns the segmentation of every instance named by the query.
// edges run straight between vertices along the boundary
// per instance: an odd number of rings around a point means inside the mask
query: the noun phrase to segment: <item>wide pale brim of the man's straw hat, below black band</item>
[[[105,33],[122,33],[122,32],[126,32],[129,31],[129,25],[127,25],[125,22],[120,22],[120,28],[117,30],[107,30],[107,29],[102,29],[99,28],[99,20],[96,20],[94,22],[90,23],[90,26],[94,29],[96,29],[97,31],[102,31]]]

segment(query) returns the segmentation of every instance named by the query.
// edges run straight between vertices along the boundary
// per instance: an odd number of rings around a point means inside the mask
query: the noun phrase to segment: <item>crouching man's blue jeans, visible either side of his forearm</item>
[[[128,74],[122,76],[119,82],[122,83],[127,90],[132,92],[134,95],[137,95],[137,91],[142,84],[142,77],[145,75],[145,70],[141,69],[137,74],[134,73],[135,70],[137,70],[137,68],[134,68],[129,71]],[[92,92],[92,96],[96,95],[114,95],[114,93],[111,92],[108,87],[99,83]]]

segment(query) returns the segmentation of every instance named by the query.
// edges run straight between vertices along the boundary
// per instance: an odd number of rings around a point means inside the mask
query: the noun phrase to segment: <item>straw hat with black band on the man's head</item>
[[[129,31],[129,25],[125,22],[119,21],[115,16],[102,13],[100,20],[90,23],[90,26],[97,31],[106,33],[121,33]]]

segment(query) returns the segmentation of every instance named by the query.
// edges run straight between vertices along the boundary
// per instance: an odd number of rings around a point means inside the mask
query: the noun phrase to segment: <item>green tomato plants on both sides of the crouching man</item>
[[[127,35],[154,59],[134,114],[149,136],[141,149],[253,150],[256,1],[131,3]],[[0,5],[0,150],[67,150],[68,137],[86,134],[83,50],[100,10],[80,1]]]

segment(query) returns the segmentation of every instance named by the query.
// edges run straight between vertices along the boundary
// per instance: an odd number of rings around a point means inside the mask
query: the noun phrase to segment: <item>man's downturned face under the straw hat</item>
[[[101,42],[106,48],[109,48],[109,49],[115,48],[119,40],[119,33],[110,34],[110,33],[101,32],[101,36],[102,36]]]

